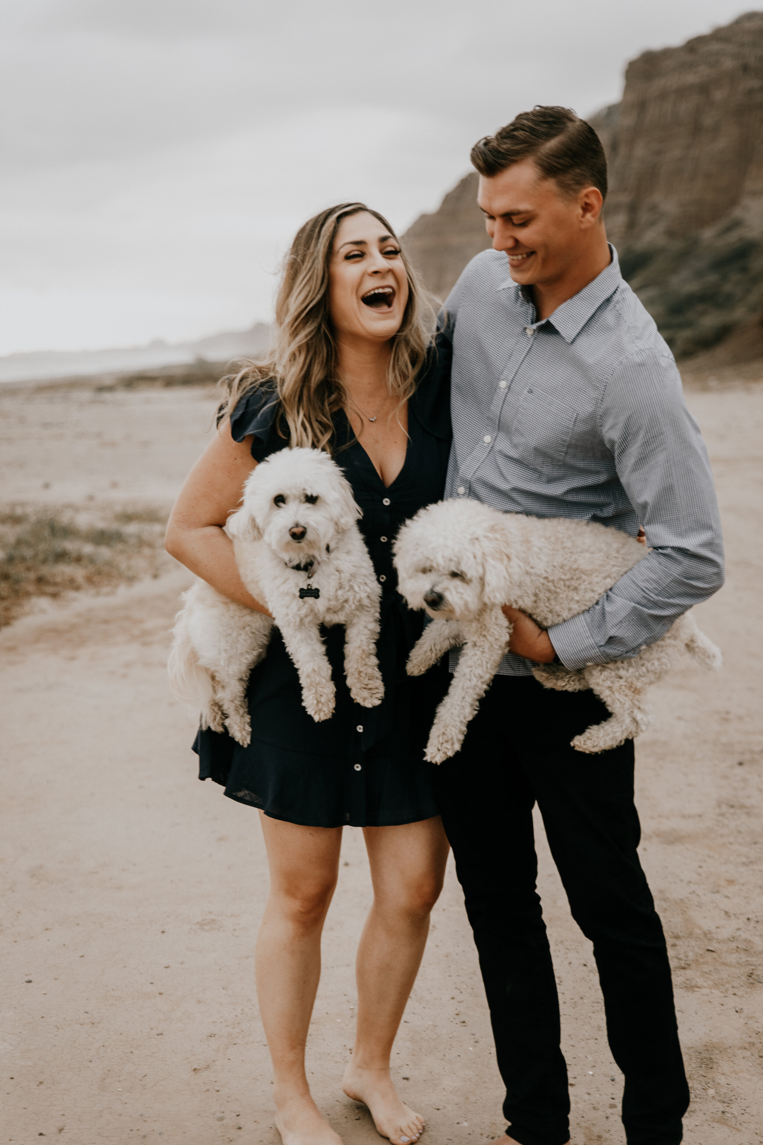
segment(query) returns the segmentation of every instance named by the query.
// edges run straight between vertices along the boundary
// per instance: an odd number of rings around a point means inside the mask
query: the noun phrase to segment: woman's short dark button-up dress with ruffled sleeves
[[[408,403],[405,464],[389,487],[345,416],[334,420],[334,457],[363,510],[359,528],[382,586],[376,645],[382,703],[361,708],[352,701],[344,679],[344,629],[325,629],[336,708],[331,719],[316,724],[302,706],[296,669],[275,629],[268,655],[249,677],[248,748],[210,729],[197,736],[199,779],[223,784],[229,798],[273,819],[310,827],[384,827],[437,814],[432,765],[424,761],[423,749],[448,678],[444,666],[415,679],[406,676],[423,614],[410,611],[397,592],[392,542],[404,521],[443,497],[451,447],[450,371],[450,346],[438,344]],[[272,388],[261,387],[231,417],[233,437],[252,435],[257,461],[286,447],[277,412]]]

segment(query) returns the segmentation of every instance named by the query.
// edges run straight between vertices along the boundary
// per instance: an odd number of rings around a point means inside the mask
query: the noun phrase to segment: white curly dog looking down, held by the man
[[[430,505],[404,524],[395,542],[399,590],[411,608],[432,617],[411,653],[408,674],[421,676],[448,648],[463,645],[426,758],[439,764],[461,747],[508,647],[511,625],[502,605],[548,629],[595,605],[645,555],[643,545],[618,529],[500,513],[468,498]],[[684,650],[707,666],[721,666],[721,653],[686,613],[630,660],[580,671],[535,664],[533,676],[561,692],[593,688],[612,716],[577,735],[572,747],[606,751],[649,727],[644,693]]]

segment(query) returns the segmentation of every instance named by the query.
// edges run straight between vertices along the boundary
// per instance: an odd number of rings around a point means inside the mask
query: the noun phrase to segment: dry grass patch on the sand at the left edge
[[[172,562],[164,551],[165,521],[166,513],[152,506],[0,510],[0,626],[35,597],[158,576]]]

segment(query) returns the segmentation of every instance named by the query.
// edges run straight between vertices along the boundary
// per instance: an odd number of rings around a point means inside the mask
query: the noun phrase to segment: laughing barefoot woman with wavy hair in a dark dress
[[[253,467],[287,445],[327,449],[344,469],[382,585],[377,655],[384,700],[364,709],[342,671],[343,629],[326,631],[334,716],[316,724],[275,631],[252,672],[252,743],[200,732],[200,777],[260,808],[271,890],[256,948],[260,1012],[285,1145],[337,1145],[307,1082],[304,1045],[320,974],[320,933],[343,826],[361,827],[374,901],[357,955],[357,1037],[344,1092],[395,1145],[423,1118],[398,1097],[389,1057],[439,895],[447,840],[423,745],[446,681],[412,680],[420,615],[396,593],[395,532],[443,496],[451,440],[450,356],[424,327],[414,275],[389,223],[360,203],[316,215],[286,259],[271,362],[223,379],[215,439],[169,520],[167,548],[220,592],[265,611],[244,587],[223,532]]]

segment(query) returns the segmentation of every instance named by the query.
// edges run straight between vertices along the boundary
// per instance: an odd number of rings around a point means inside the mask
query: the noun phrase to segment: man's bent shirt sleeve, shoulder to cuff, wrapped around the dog
[[[570,669],[635,656],[723,584],[710,464],[667,350],[639,350],[614,371],[599,419],[650,552],[593,608],[549,629]]]

